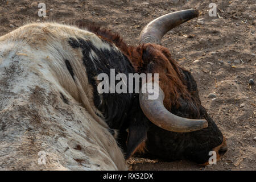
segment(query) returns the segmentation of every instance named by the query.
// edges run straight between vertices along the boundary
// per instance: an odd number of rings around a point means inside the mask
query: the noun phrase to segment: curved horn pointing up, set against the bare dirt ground
[[[139,44],[155,43],[160,44],[161,39],[168,31],[181,23],[199,16],[199,10],[189,9],[169,13],[148,23],[139,36]]]

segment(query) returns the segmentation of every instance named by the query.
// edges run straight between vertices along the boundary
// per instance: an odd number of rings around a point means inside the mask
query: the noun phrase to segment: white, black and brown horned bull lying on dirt
[[[32,23],[2,36],[0,168],[125,170],[135,154],[205,165],[216,151],[220,159],[225,137],[201,105],[196,81],[160,45],[198,15],[191,9],[153,20],[138,46],[85,23]],[[111,69],[159,73],[152,80],[159,97],[99,93],[97,76]]]

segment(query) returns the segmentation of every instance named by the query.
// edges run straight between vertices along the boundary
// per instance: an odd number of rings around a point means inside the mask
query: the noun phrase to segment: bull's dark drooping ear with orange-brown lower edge
[[[148,131],[147,119],[134,118],[128,129],[126,159],[129,159],[135,152],[143,153],[146,150],[146,139]]]

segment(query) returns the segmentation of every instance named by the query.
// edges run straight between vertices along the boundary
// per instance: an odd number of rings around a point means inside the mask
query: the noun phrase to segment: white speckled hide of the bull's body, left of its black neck
[[[70,38],[122,56],[89,31],[54,23],[0,38],[1,169],[127,169]]]

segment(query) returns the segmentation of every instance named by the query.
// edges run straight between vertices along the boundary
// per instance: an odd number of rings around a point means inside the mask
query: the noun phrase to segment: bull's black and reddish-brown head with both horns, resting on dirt
[[[180,68],[170,51],[159,45],[166,32],[198,15],[199,11],[192,9],[153,20],[141,32],[139,46],[130,50],[137,72],[159,73],[159,97],[148,100],[149,93],[139,94],[141,108],[133,108],[134,113],[142,110],[146,117],[138,118],[139,114],[135,114],[130,119],[127,158],[144,150],[143,154],[149,157],[184,157],[207,164],[210,151],[216,151],[218,159],[227,150],[221,131],[201,106],[191,73]]]

